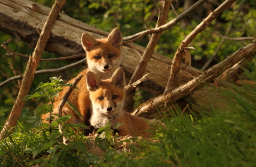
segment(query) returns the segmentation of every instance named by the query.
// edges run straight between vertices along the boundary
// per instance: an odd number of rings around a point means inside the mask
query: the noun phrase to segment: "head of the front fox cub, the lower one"
[[[111,79],[100,80],[89,71],[86,83],[93,104],[93,112],[107,115],[118,115],[123,111],[125,75],[122,67],[117,68]]]

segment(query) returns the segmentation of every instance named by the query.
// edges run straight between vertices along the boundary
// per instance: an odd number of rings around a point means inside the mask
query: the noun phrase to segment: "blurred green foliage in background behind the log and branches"
[[[54,0],[44,1],[44,0],[32,0],[37,3],[44,4],[47,7],[52,7]],[[223,2],[223,0],[217,1],[218,3]],[[183,12],[184,1],[178,1],[173,3],[178,14]],[[112,31],[113,28],[119,27],[123,36],[133,35],[137,32],[146,30],[148,28],[154,28],[157,22],[158,16],[158,7],[161,6],[160,1],[120,1],[120,0],[104,0],[104,1],[66,1],[62,11],[64,11],[68,16],[78,19],[79,21],[85,22],[90,26],[95,26],[104,31]],[[202,21],[202,18],[205,18],[209,14],[210,10],[214,10],[218,7],[215,4],[207,3],[207,5],[199,8],[196,12],[191,14],[190,18],[187,18],[192,26],[196,26]],[[240,7],[240,8],[239,8]],[[255,12],[255,3],[253,1],[236,1],[231,8],[224,11],[218,19],[210,24],[206,30],[218,32],[222,35],[225,35],[226,28],[233,22],[231,26],[231,31],[228,37],[239,38],[239,37],[252,37],[256,23],[254,18],[256,17]],[[239,9],[239,11],[237,11]],[[176,17],[175,13],[170,9],[168,13],[168,20],[171,21]],[[178,23],[176,26],[163,32],[160,42],[156,46],[156,51],[162,55],[173,57],[178,46],[182,40],[188,35],[194,28],[187,26],[184,23]],[[18,41],[15,37],[11,37],[0,32],[0,42],[7,41],[8,38],[12,38],[12,42],[8,43],[7,46],[18,53],[32,55],[33,48],[31,48],[27,43]],[[191,42],[190,46],[196,48],[195,51],[191,51],[192,65],[196,68],[201,68],[208,58],[214,53],[216,47],[219,45],[220,41],[223,38],[220,36],[210,33],[202,32],[196,36],[196,38]],[[144,36],[141,40],[136,41],[139,45],[147,46],[149,41],[149,36]],[[210,66],[222,61],[226,56],[229,56],[231,53],[238,50],[240,47],[248,45],[252,40],[243,40],[243,41],[233,41],[226,40],[218,54],[215,56],[214,61]],[[0,81],[3,82],[8,78],[15,76],[11,70],[11,65],[15,70],[24,73],[27,66],[27,58],[20,56],[7,56],[8,51],[0,48],[0,57],[1,57],[1,72],[0,72]],[[44,52],[42,58],[56,58],[59,57],[54,53]],[[71,61],[61,60],[57,62],[40,62],[37,70],[59,68],[65,65],[68,65]],[[209,67],[210,67],[209,66]],[[56,76],[64,80],[64,83],[70,78],[76,76],[79,70],[83,67],[73,68],[72,70],[67,70],[61,73],[45,73],[40,76],[35,76],[33,84],[31,87],[30,94],[36,89],[37,85],[40,82],[48,82],[48,78]],[[18,73],[16,73],[18,75]],[[0,125],[7,119],[9,112],[11,112],[12,106],[16,100],[18,94],[18,82],[13,81],[8,85],[0,88]],[[143,99],[139,97],[139,94],[142,94]],[[144,92],[138,93],[138,104],[147,100],[148,95]],[[20,117],[20,122],[23,124],[24,120],[27,119],[27,116],[33,115],[33,110],[37,105],[45,104],[44,99],[38,98],[36,101],[27,101],[23,107],[22,115]]]

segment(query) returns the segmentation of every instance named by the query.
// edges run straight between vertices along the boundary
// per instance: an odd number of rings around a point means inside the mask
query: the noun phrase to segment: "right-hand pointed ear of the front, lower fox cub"
[[[126,85],[125,83],[125,74],[124,70],[122,67],[117,68],[115,70],[112,78],[111,78],[111,83],[116,86],[116,87],[124,87]]]

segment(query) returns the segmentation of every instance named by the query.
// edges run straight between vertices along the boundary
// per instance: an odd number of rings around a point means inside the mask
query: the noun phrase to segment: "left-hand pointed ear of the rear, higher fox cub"
[[[83,33],[81,37],[81,43],[85,51],[91,51],[98,44],[98,41],[88,33]]]

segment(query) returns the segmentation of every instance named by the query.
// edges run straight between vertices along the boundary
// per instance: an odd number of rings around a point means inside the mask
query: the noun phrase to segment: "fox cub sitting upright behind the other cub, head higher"
[[[90,119],[90,106],[91,101],[89,98],[89,91],[86,86],[85,76],[88,71],[96,73],[99,78],[107,79],[112,77],[113,73],[120,66],[121,62],[121,51],[120,45],[122,45],[123,37],[119,31],[119,28],[115,28],[110,32],[108,38],[103,38],[96,40],[94,37],[90,36],[88,33],[83,33],[81,36],[81,44],[86,52],[88,68],[84,71],[81,71],[78,76],[84,75],[82,80],[78,83],[72,94],[69,96],[69,101],[72,105],[75,105],[78,111],[81,113],[83,120],[69,107],[65,104],[63,107],[63,114],[73,114],[71,119],[67,122],[72,124],[82,123],[89,125]],[[76,78],[76,77],[75,77]],[[68,83],[73,83],[75,78],[67,81]],[[55,97],[56,101],[54,103],[54,114],[57,113],[57,108],[60,104],[60,99],[65,95],[69,87],[63,87],[63,91],[60,92],[59,97]],[[49,117],[49,114],[42,116],[42,120],[46,121],[46,118]],[[48,122],[48,121],[46,121]]]

